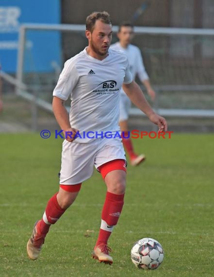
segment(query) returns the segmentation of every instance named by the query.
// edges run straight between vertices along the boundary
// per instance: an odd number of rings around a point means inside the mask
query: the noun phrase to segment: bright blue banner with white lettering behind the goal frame
[[[18,31],[22,23],[59,24],[60,0],[0,0],[0,64],[3,71],[16,72]],[[53,71],[61,66],[61,36],[57,31],[27,31],[24,71]]]

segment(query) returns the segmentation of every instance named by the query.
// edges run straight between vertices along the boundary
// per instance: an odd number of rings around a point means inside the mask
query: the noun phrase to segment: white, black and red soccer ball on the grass
[[[131,259],[138,268],[156,269],[164,260],[164,249],[156,240],[144,238],[134,243]]]

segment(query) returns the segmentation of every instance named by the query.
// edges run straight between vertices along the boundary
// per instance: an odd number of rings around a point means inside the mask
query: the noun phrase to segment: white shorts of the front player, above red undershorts
[[[115,160],[126,160],[125,151],[119,138],[97,138],[89,143],[64,140],[60,185],[76,185],[90,178],[93,167]]]

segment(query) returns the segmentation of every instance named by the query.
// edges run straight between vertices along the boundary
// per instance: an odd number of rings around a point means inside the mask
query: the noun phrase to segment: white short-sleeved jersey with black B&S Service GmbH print
[[[119,131],[119,99],[123,83],[132,82],[127,56],[109,49],[109,55],[98,60],[86,49],[67,60],[53,96],[71,99],[69,113],[72,128],[82,132]],[[92,137],[93,135],[90,134]],[[76,138],[86,143],[90,138]]]

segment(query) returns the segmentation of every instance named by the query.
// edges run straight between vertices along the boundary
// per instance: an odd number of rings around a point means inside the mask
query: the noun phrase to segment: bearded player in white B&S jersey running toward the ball
[[[66,61],[53,91],[53,112],[66,138],[62,150],[60,188],[49,199],[42,219],[33,227],[27,244],[28,256],[32,260],[38,258],[50,225],[55,224],[74,202],[82,182],[92,176],[95,166],[103,177],[107,192],[92,256],[100,262],[113,262],[107,242],[123,207],[126,158],[121,138],[105,138],[101,134],[120,134],[121,86],[150,121],[161,131],[167,129],[165,119],[154,113],[132,80],[126,55],[109,49],[112,39],[109,14],[95,12],[89,15],[85,34],[88,46]],[[65,108],[68,97],[71,98],[69,117]],[[70,132],[70,136],[66,132]],[[84,132],[90,134],[84,135]],[[93,137],[93,132],[98,132],[99,136]]]

